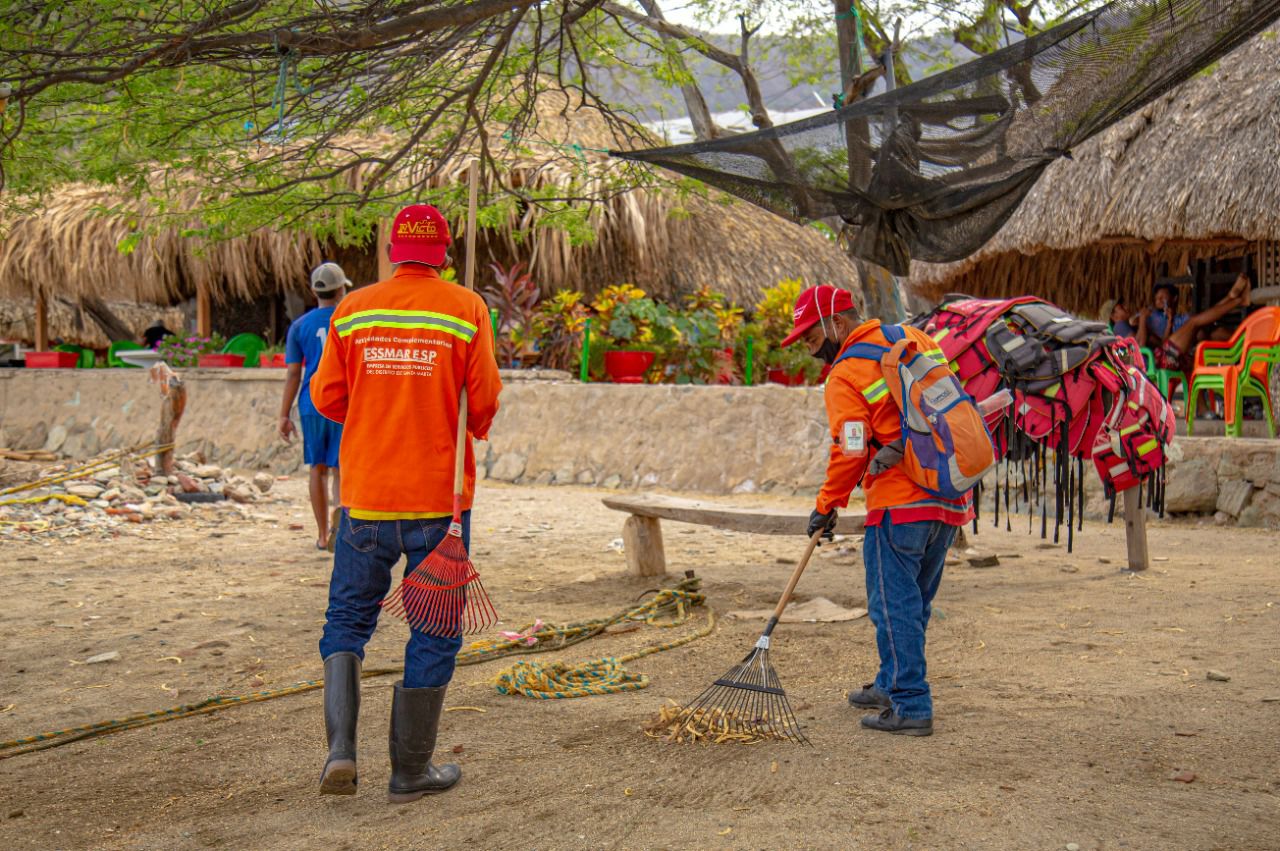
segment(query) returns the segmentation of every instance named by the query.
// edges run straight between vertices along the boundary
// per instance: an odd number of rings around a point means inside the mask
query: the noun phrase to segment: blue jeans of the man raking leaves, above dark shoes
[[[956,527],[941,521],[895,526],[887,513],[879,526],[867,529],[867,609],[881,656],[876,687],[890,696],[902,718],[933,718],[924,680],[924,631],[955,536]]]

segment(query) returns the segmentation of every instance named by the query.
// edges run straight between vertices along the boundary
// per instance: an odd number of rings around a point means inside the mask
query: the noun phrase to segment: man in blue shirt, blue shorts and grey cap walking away
[[[298,420],[302,422],[302,459],[311,467],[311,511],[316,517],[316,549],[333,549],[333,536],[337,532],[338,511],[338,445],[342,441],[342,425],[326,420],[311,403],[311,376],[320,366],[324,342],[329,337],[329,321],[333,308],[347,294],[351,282],[347,273],[335,262],[324,262],[311,271],[311,292],[316,294],[319,307],[307,311],[289,325],[284,342],[284,363],[288,375],[284,380],[284,399],[280,401],[280,436],[288,443],[296,431],[289,412],[293,399],[298,399]],[[301,390],[301,394],[300,394]],[[333,512],[329,509],[329,472],[333,471]]]

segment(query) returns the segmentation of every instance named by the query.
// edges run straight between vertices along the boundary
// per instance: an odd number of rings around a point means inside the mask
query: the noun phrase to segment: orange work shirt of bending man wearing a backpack
[[[922,351],[943,357],[938,344],[924,331],[908,326],[902,330],[909,339],[920,343]],[[854,343],[891,346],[878,319],[854,329],[841,347],[841,354]],[[849,357],[836,363],[827,376],[824,399],[832,445],[831,458],[827,461],[827,480],[818,493],[818,511],[826,514],[832,508],[845,508],[849,505],[849,495],[861,482],[867,495],[868,526],[878,526],[886,511],[895,525],[941,520],[951,526],[960,526],[973,520],[970,494],[959,500],[934,497],[899,467],[891,467],[878,476],[867,475],[864,481],[867,466],[877,448],[902,436],[902,415],[884,385],[878,362]],[[856,425],[859,422],[861,426]],[[861,435],[861,454],[846,453],[846,424],[854,424],[854,434]]]

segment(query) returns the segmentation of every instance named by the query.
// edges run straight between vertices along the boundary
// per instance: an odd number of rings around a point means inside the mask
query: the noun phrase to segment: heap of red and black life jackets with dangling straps
[[[1174,439],[1174,415],[1143,372],[1135,340],[1115,337],[1102,322],[1076,319],[1033,296],[947,296],[911,324],[937,340],[975,401],[1001,389],[1014,394],[1011,408],[987,417],[996,457],[1009,462],[1004,471],[1006,527],[1012,498],[1015,509],[1030,508],[1030,517],[1038,505],[1046,536],[1044,491],[1052,486],[1053,540],[1065,517],[1070,548],[1071,531],[1083,521],[1088,459],[1111,500],[1112,516],[1116,494],[1142,484],[1149,504],[1164,513],[1165,452]],[[1012,465],[1020,465],[1021,475],[1011,485]],[[1000,503],[997,477],[996,523]]]

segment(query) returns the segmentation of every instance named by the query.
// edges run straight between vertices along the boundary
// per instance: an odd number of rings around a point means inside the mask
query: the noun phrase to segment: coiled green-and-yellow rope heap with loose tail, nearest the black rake
[[[553,662],[547,665],[536,662],[517,662],[494,678],[494,688],[498,690],[499,695],[524,695],[536,700],[562,700],[639,691],[649,686],[649,677],[643,673],[627,672],[623,667],[625,663],[686,645],[710,635],[714,628],[716,614],[709,613],[707,626],[698,632],[625,656],[602,656],[573,667],[563,662]]]

